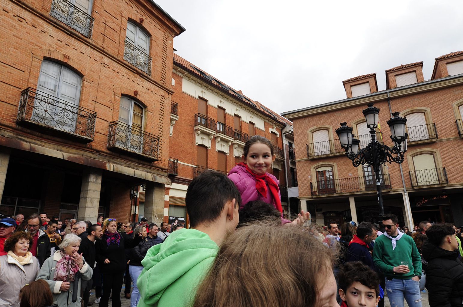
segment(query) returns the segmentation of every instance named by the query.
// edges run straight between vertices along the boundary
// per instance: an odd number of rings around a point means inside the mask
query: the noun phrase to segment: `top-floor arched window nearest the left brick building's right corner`
[[[151,74],[150,37],[133,22],[127,22],[124,60]]]

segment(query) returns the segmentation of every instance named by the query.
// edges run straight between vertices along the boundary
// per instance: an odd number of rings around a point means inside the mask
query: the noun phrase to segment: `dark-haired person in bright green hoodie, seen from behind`
[[[142,260],[138,307],[191,306],[219,245],[238,225],[241,196],[222,173],[206,171],[194,178],[185,203],[190,228],[174,231]]]

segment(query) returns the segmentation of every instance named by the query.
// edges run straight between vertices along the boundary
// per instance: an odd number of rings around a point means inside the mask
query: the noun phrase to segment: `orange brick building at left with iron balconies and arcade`
[[[0,213],[163,220],[173,38],[150,0],[6,0]]]

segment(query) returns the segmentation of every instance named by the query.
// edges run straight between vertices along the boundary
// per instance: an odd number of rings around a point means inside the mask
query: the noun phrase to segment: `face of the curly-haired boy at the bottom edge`
[[[370,289],[360,282],[352,283],[346,293],[339,289],[339,296],[349,307],[375,307],[380,299],[375,289]]]

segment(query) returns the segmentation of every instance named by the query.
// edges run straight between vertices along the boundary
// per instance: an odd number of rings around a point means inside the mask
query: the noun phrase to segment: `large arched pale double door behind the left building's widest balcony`
[[[79,118],[81,77],[56,62],[44,60],[38,76],[32,120],[62,131],[75,133]]]

